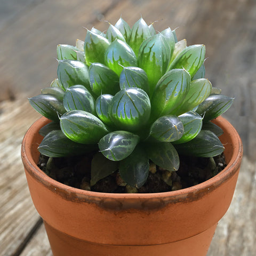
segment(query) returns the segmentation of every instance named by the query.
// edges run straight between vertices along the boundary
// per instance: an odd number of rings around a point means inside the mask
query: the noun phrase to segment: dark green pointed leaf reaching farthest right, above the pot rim
[[[197,108],[196,112],[204,117],[204,122],[210,121],[225,113],[232,105],[234,98],[225,95],[210,95]]]

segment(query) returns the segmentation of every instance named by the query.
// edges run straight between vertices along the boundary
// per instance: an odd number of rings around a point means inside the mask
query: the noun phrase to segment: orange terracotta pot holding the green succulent
[[[42,140],[36,121],[22,142],[22,161],[36,210],[54,256],[206,255],[218,221],[228,210],[242,160],[234,127],[219,117],[228,166],[199,185],[156,194],[108,194],[72,188],[38,167]]]

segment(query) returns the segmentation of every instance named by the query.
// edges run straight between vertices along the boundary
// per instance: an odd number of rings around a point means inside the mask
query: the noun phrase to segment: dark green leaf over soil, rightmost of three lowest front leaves
[[[149,159],[156,165],[168,171],[178,171],[180,159],[171,142],[148,143],[145,148]]]

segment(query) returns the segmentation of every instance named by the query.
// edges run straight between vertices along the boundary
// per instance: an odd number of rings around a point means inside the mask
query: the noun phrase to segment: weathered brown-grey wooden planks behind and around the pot
[[[93,26],[142,17],[157,30],[177,29],[188,45],[205,44],[206,77],[235,97],[225,117],[236,127],[245,157],[233,202],[207,256],[256,252],[256,2],[254,0],[82,1],[0,0],[0,256],[50,256],[20,159],[28,127],[39,117],[27,97],[57,76],[57,44],[84,39]]]

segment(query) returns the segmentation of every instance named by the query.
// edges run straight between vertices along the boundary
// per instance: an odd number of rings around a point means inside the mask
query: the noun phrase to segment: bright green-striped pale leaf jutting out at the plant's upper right
[[[202,66],[205,57],[205,46],[202,44],[190,45],[184,49],[171,63],[168,70],[174,68],[185,68],[191,77]]]

